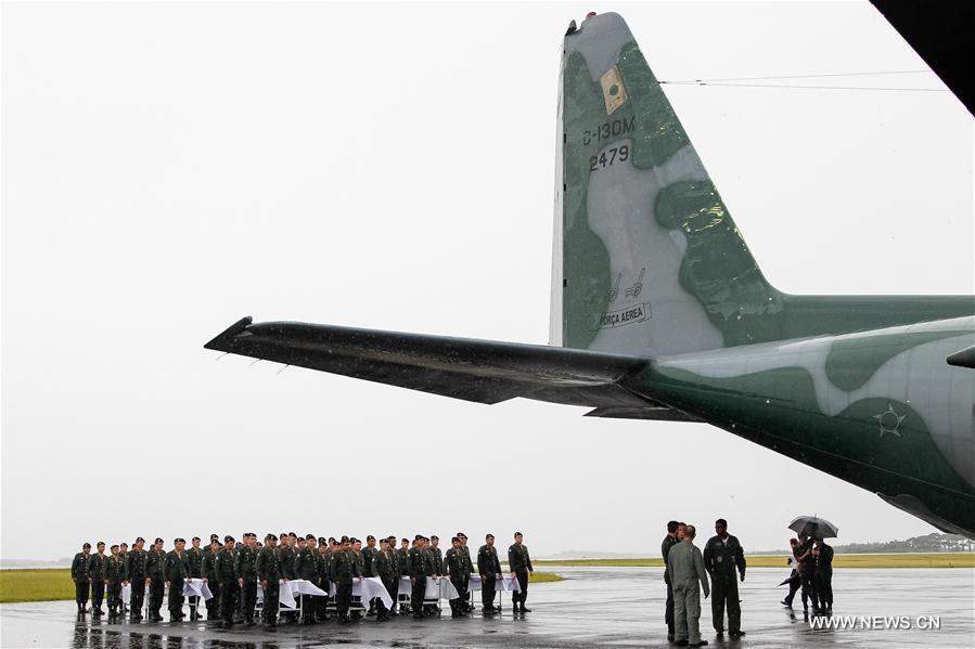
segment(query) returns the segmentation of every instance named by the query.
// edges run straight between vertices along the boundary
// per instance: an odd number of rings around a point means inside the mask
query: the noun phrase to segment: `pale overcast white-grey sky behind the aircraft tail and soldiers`
[[[484,406],[226,356],[243,315],[548,340],[561,39],[618,11],[662,79],[926,69],[868,2],[2,5],[2,551],[514,530],[654,555],[933,528],[704,425]],[[973,128],[927,74],[667,86],[766,275],[973,291]]]

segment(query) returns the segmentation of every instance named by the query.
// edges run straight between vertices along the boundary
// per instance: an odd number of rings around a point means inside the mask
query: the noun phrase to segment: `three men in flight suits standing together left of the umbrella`
[[[724,635],[728,609],[728,635],[745,635],[737,582],[745,581],[745,554],[735,536],[728,533],[728,521],[715,521],[716,534],[708,538],[704,554],[694,545],[694,525],[671,520],[660,546],[666,570],[667,603],[664,620],[667,639],[680,646],[707,645],[701,639],[701,590],[711,596],[711,620],[718,637]],[[708,585],[708,577],[710,584]],[[700,584],[700,588],[698,588]]]

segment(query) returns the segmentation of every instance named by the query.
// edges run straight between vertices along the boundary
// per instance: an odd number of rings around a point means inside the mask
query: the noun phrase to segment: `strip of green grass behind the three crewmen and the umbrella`
[[[745,557],[753,568],[783,568],[785,555]],[[533,561],[536,566],[621,566],[664,567],[663,559],[569,559],[566,561]],[[833,568],[975,568],[973,553],[903,554],[903,555],[836,555]]]

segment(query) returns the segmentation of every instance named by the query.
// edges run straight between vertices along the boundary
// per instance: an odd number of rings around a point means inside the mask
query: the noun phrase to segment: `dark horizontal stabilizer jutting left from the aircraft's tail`
[[[478,403],[659,406],[621,385],[650,364],[640,356],[251,317],[205,347]]]

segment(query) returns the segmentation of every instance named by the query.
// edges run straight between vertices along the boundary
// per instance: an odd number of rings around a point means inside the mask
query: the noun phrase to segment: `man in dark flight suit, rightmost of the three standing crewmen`
[[[711,623],[721,637],[724,634],[724,607],[728,606],[728,635],[745,635],[742,631],[742,607],[737,597],[737,579],[745,581],[745,553],[739,540],[728,533],[728,521],[715,521],[715,532],[704,546],[704,568],[711,577]],[[737,575],[735,574],[737,570]]]

